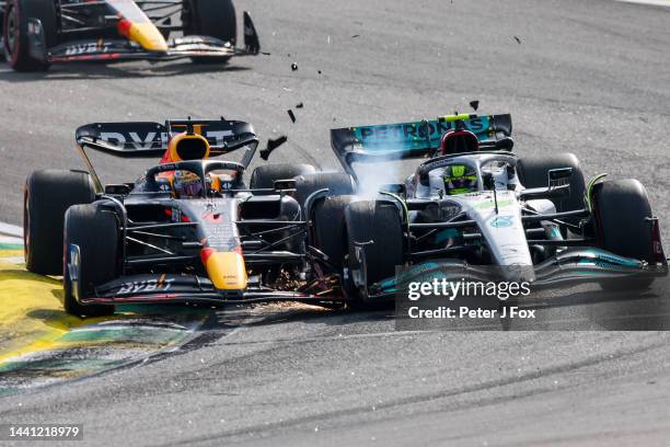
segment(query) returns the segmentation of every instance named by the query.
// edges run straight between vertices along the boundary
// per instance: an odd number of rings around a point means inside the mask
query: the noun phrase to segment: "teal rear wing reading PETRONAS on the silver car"
[[[442,135],[460,122],[483,146],[511,136],[511,115],[448,115],[434,121],[358,126],[331,130],[331,145],[346,172],[356,177],[354,162],[423,158],[434,154]],[[487,145],[488,144],[488,145]]]

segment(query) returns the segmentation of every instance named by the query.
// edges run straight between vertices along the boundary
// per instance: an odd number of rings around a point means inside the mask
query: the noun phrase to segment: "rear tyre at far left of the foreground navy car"
[[[23,194],[23,245],[28,272],[62,273],[66,210],[94,198],[95,188],[86,172],[48,169],[28,175]]]

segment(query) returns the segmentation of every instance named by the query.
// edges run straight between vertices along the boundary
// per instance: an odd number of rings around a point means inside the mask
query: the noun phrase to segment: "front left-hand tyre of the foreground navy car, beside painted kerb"
[[[63,252],[66,257],[62,288],[67,313],[77,317],[101,317],[114,313],[113,305],[81,305],[81,297],[92,297],[95,286],[119,276],[119,230],[116,215],[96,204],[76,205],[65,218]],[[79,255],[74,247],[79,248]]]

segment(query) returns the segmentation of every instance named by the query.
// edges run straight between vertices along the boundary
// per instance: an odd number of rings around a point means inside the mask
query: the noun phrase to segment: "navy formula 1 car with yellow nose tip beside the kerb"
[[[250,124],[223,118],[96,123],[78,128],[76,140],[88,172],[33,172],[24,197],[26,268],[62,273],[67,312],[345,300],[335,256],[313,236],[328,231],[332,216],[305,217],[316,195],[351,194],[348,174],[268,164],[247,186],[258,139]],[[162,159],[136,182],[103,185],[86,149]],[[240,161],[217,159],[233,152]]]

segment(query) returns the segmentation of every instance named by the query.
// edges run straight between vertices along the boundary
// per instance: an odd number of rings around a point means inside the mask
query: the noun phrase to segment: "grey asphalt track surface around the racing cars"
[[[72,136],[83,123],[249,119],[264,138],[289,136],[272,161],[330,169],[331,127],[465,112],[476,99],[512,114],[520,154],[571,151],[587,174],[639,177],[670,222],[668,9],[238,3],[269,56],[46,76],[0,66],[0,220],[20,222],[32,169],[81,167]],[[108,158],[99,170],[107,181],[140,171]],[[196,348],[0,399],[0,420],[82,423],[91,445],[667,445],[665,332],[395,332],[390,313],[267,307],[221,317]]]

